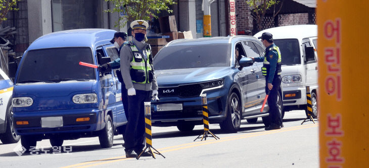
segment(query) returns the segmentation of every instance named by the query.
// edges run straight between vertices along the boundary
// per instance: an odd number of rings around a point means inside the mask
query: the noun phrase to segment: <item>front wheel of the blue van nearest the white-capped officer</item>
[[[108,115],[106,117],[106,125],[102,130],[102,133],[99,135],[100,146],[102,148],[110,148],[113,146],[114,140],[114,127],[111,117]]]

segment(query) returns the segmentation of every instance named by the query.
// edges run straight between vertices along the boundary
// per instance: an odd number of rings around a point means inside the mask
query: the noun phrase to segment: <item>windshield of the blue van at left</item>
[[[30,50],[22,60],[16,83],[87,81],[95,79],[95,69],[79,65],[94,64],[88,47]]]

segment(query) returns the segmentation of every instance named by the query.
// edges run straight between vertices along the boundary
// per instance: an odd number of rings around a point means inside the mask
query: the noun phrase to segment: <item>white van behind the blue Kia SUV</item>
[[[306,109],[306,86],[310,87],[312,116],[317,118],[317,26],[292,25],[265,29],[273,35],[282,55],[283,115],[285,111]]]

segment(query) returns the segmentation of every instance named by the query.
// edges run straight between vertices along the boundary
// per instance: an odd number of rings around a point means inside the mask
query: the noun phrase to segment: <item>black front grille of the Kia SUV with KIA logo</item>
[[[197,97],[200,96],[202,87],[200,84],[181,85],[178,87],[163,87],[158,89],[159,97]]]

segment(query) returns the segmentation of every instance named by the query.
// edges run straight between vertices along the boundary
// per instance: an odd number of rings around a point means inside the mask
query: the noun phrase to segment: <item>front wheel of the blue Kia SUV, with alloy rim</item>
[[[228,133],[235,133],[241,126],[241,101],[236,93],[230,94],[227,100],[227,117],[220,123],[220,128]]]

